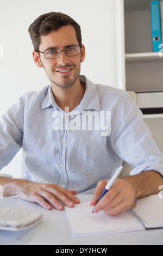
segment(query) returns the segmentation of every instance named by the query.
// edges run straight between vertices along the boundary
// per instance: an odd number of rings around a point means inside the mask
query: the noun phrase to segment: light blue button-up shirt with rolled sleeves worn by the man
[[[85,76],[80,81],[86,86],[84,97],[68,114],[58,107],[51,86],[24,93],[8,109],[0,120],[0,169],[23,148],[24,179],[78,193],[108,179],[123,160],[133,165],[131,175],[144,170],[163,175],[163,156],[133,99],[123,90],[93,84]],[[92,130],[74,129],[74,118],[88,111],[111,113],[108,136],[102,136],[95,125]],[[61,113],[61,119],[67,116],[66,125],[71,122],[73,129],[55,129],[56,113]]]

